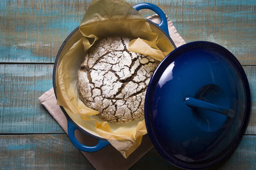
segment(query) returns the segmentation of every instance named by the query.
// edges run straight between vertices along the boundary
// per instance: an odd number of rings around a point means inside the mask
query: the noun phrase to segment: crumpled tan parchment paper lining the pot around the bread
[[[145,17],[124,0],[93,0],[80,26],[84,35],[64,55],[57,68],[56,94],[57,104],[67,108],[73,114],[81,114],[81,119],[94,120],[97,111],[90,109],[79,100],[77,90],[77,73],[87,50],[98,40],[127,36],[136,40],[129,43],[128,50],[162,60],[171,51],[171,46],[162,39],[157,39]],[[161,46],[161,49],[158,48]],[[148,51],[150,54],[148,54]],[[119,130],[113,133],[107,122],[95,124],[96,130],[112,144],[124,158],[127,158],[140,146],[143,134],[147,133],[145,121],[136,128]]]

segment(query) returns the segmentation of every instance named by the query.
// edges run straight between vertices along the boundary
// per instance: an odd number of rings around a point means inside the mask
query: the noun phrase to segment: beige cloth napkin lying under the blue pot
[[[166,16],[168,29],[172,41],[179,47],[185,44],[176,28],[173,26],[172,21]],[[158,15],[148,17],[151,21],[159,24],[160,18]],[[60,124],[64,131],[68,134],[67,119],[60,107],[56,105],[57,100],[53,88],[45,92],[41,97],[38,98],[44,107],[49,111],[53,118]],[[84,145],[94,146],[98,141],[92,137],[85,135],[83,132],[75,131],[76,139]],[[125,159],[124,156],[117,151],[112,145],[108,145],[98,152],[82,152],[86,159],[94,166],[97,170],[127,170],[134,165],[140,158],[142,158],[150,149],[154,146],[151,143],[148,136],[144,137],[141,145],[132,154]]]

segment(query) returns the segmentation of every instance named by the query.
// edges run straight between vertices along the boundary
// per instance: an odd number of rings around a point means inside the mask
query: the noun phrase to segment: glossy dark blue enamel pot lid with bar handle
[[[148,135],[173,165],[204,169],[239,143],[250,103],[249,83],[236,57],[215,43],[191,42],[167,55],[148,84]]]

